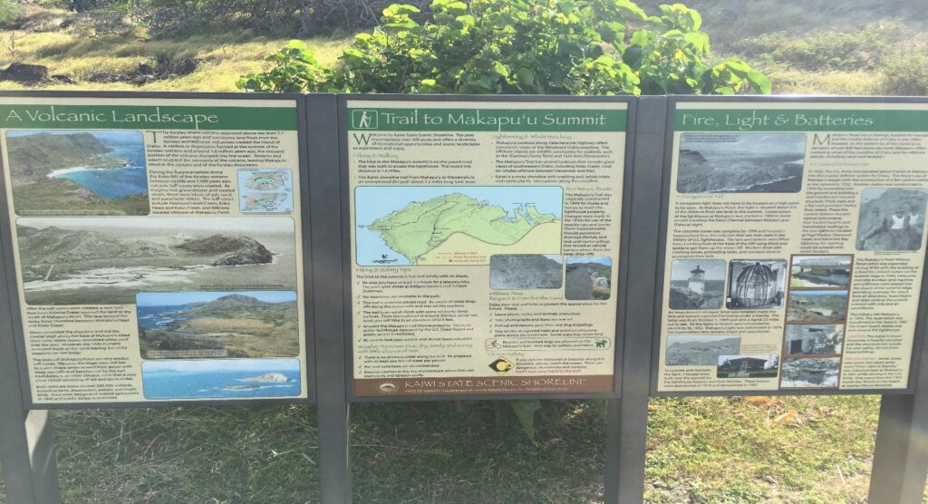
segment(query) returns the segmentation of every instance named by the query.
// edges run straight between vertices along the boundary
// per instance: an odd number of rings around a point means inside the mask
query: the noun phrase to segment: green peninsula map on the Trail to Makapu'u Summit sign
[[[538,198],[526,190],[533,188],[550,194]],[[359,263],[369,255],[374,265],[480,265],[494,253],[561,252],[561,187],[445,189],[459,190],[421,200],[406,195],[402,208],[367,224],[359,220],[387,250],[367,253],[359,240]],[[550,208],[539,209],[536,200]]]

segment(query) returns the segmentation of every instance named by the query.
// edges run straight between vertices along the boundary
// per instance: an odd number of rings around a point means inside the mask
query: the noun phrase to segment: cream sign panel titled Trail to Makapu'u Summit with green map
[[[354,396],[612,393],[626,112],[347,100]]]

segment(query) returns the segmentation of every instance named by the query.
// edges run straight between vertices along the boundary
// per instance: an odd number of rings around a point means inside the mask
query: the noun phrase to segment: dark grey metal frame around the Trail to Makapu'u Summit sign
[[[585,394],[414,394],[414,395],[383,395],[383,396],[358,396],[354,394],[354,349],[353,349],[353,304],[352,304],[352,267],[354,258],[352,257],[351,248],[351,215],[350,198],[348,191],[349,182],[349,157],[348,157],[348,117],[347,104],[349,101],[367,100],[367,101],[416,101],[437,102],[446,101],[454,102],[484,102],[484,103],[615,103],[622,102],[626,104],[626,124],[625,124],[625,154],[623,156],[625,174],[623,174],[623,194],[622,194],[622,222],[620,225],[620,242],[619,242],[619,275],[616,295],[618,303],[616,306],[616,325],[614,336],[614,353],[612,369],[612,393],[585,393]],[[471,95],[339,95],[339,121],[342,127],[339,131],[340,138],[340,176],[342,187],[342,278],[344,282],[344,342],[345,342],[345,379],[348,383],[350,400],[352,402],[402,402],[402,401],[446,401],[446,400],[511,400],[511,399],[570,399],[570,398],[617,398],[620,391],[621,365],[620,359],[623,352],[624,336],[623,327],[625,326],[625,284],[628,272],[628,229],[629,215],[631,209],[631,187],[632,187],[632,169],[631,162],[634,149],[634,127],[636,119],[635,97],[560,97],[560,96],[471,96]]]

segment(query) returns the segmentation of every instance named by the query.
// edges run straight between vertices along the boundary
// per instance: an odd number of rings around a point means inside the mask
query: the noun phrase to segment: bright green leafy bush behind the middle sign
[[[629,0],[434,0],[432,20],[393,5],[355,36],[335,68],[299,41],[243,76],[248,91],[554,95],[769,93],[737,58],[709,60],[699,13],[681,4],[648,16]]]

